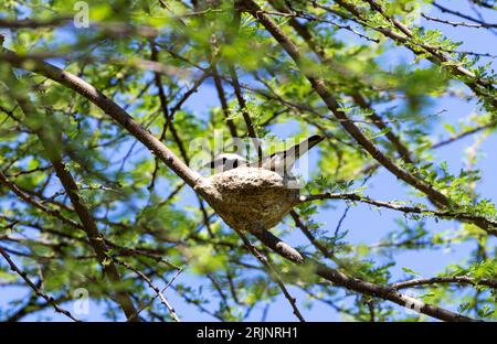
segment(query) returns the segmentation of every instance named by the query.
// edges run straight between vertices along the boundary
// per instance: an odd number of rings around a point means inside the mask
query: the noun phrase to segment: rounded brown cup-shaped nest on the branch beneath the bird
[[[257,232],[276,226],[296,205],[298,189],[264,169],[239,168],[204,178],[197,186],[232,228]]]

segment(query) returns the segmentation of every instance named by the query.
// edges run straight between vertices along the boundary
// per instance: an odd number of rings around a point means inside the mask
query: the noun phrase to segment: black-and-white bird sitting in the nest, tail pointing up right
[[[262,159],[254,162],[248,162],[240,154],[221,153],[216,155],[212,161],[207,163],[207,165],[209,165],[211,169],[214,169],[216,173],[225,172],[240,166],[247,166],[274,171],[282,176],[290,176],[290,171],[294,168],[295,162],[324,139],[325,137],[320,135],[313,135],[311,137],[303,140],[300,143],[295,144],[287,150],[262,157]]]

